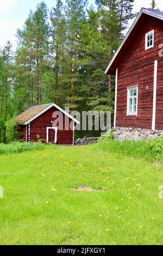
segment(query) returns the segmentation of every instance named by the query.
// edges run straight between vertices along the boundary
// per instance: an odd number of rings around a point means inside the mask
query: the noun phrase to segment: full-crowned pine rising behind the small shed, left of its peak
[[[17,37],[18,48],[26,49],[27,64],[33,63],[35,67],[36,103],[39,105],[42,102],[41,76],[48,56],[49,43],[48,13],[44,2],[37,5],[34,13],[30,11],[22,31],[18,29]]]

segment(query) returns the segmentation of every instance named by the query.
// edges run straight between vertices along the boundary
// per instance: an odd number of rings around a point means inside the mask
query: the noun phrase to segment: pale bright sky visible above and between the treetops
[[[10,40],[16,48],[16,30],[22,28],[24,21],[27,19],[30,9],[35,10],[36,5],[41,0],[1,0],[0,5],[0,47]],[[56,0],[44,1],[48,8],[51,9]],[[135,0],[134,11],[140,11],[142,7],[149,8],[151,0]],[[156,0],[160,10],[163,11],[163,1]],[[89,5],[95,5],[95,0],[89,0]]]

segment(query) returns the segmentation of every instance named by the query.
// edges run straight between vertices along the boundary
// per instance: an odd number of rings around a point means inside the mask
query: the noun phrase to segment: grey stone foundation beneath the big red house
[[[140,128],[115,127],[112,130],[114,132],[114,138],[121,140],[134,139],[135,141],[139,141],[140,139],[158,138],[160,135],[163,135],[163,131],[152,131]]]

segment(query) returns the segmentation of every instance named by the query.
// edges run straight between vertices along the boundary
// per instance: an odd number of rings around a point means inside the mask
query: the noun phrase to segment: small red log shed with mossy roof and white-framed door
[[[33,106],[15,118],[23,141],[74,144],[74,124],[79,121],[54,103]],[[59,122],[60,123],[59,123]]]

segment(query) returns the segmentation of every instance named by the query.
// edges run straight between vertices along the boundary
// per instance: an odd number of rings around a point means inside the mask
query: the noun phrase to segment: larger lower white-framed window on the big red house
[[[127,88],[127,115],[137,115],[138,87]]]

